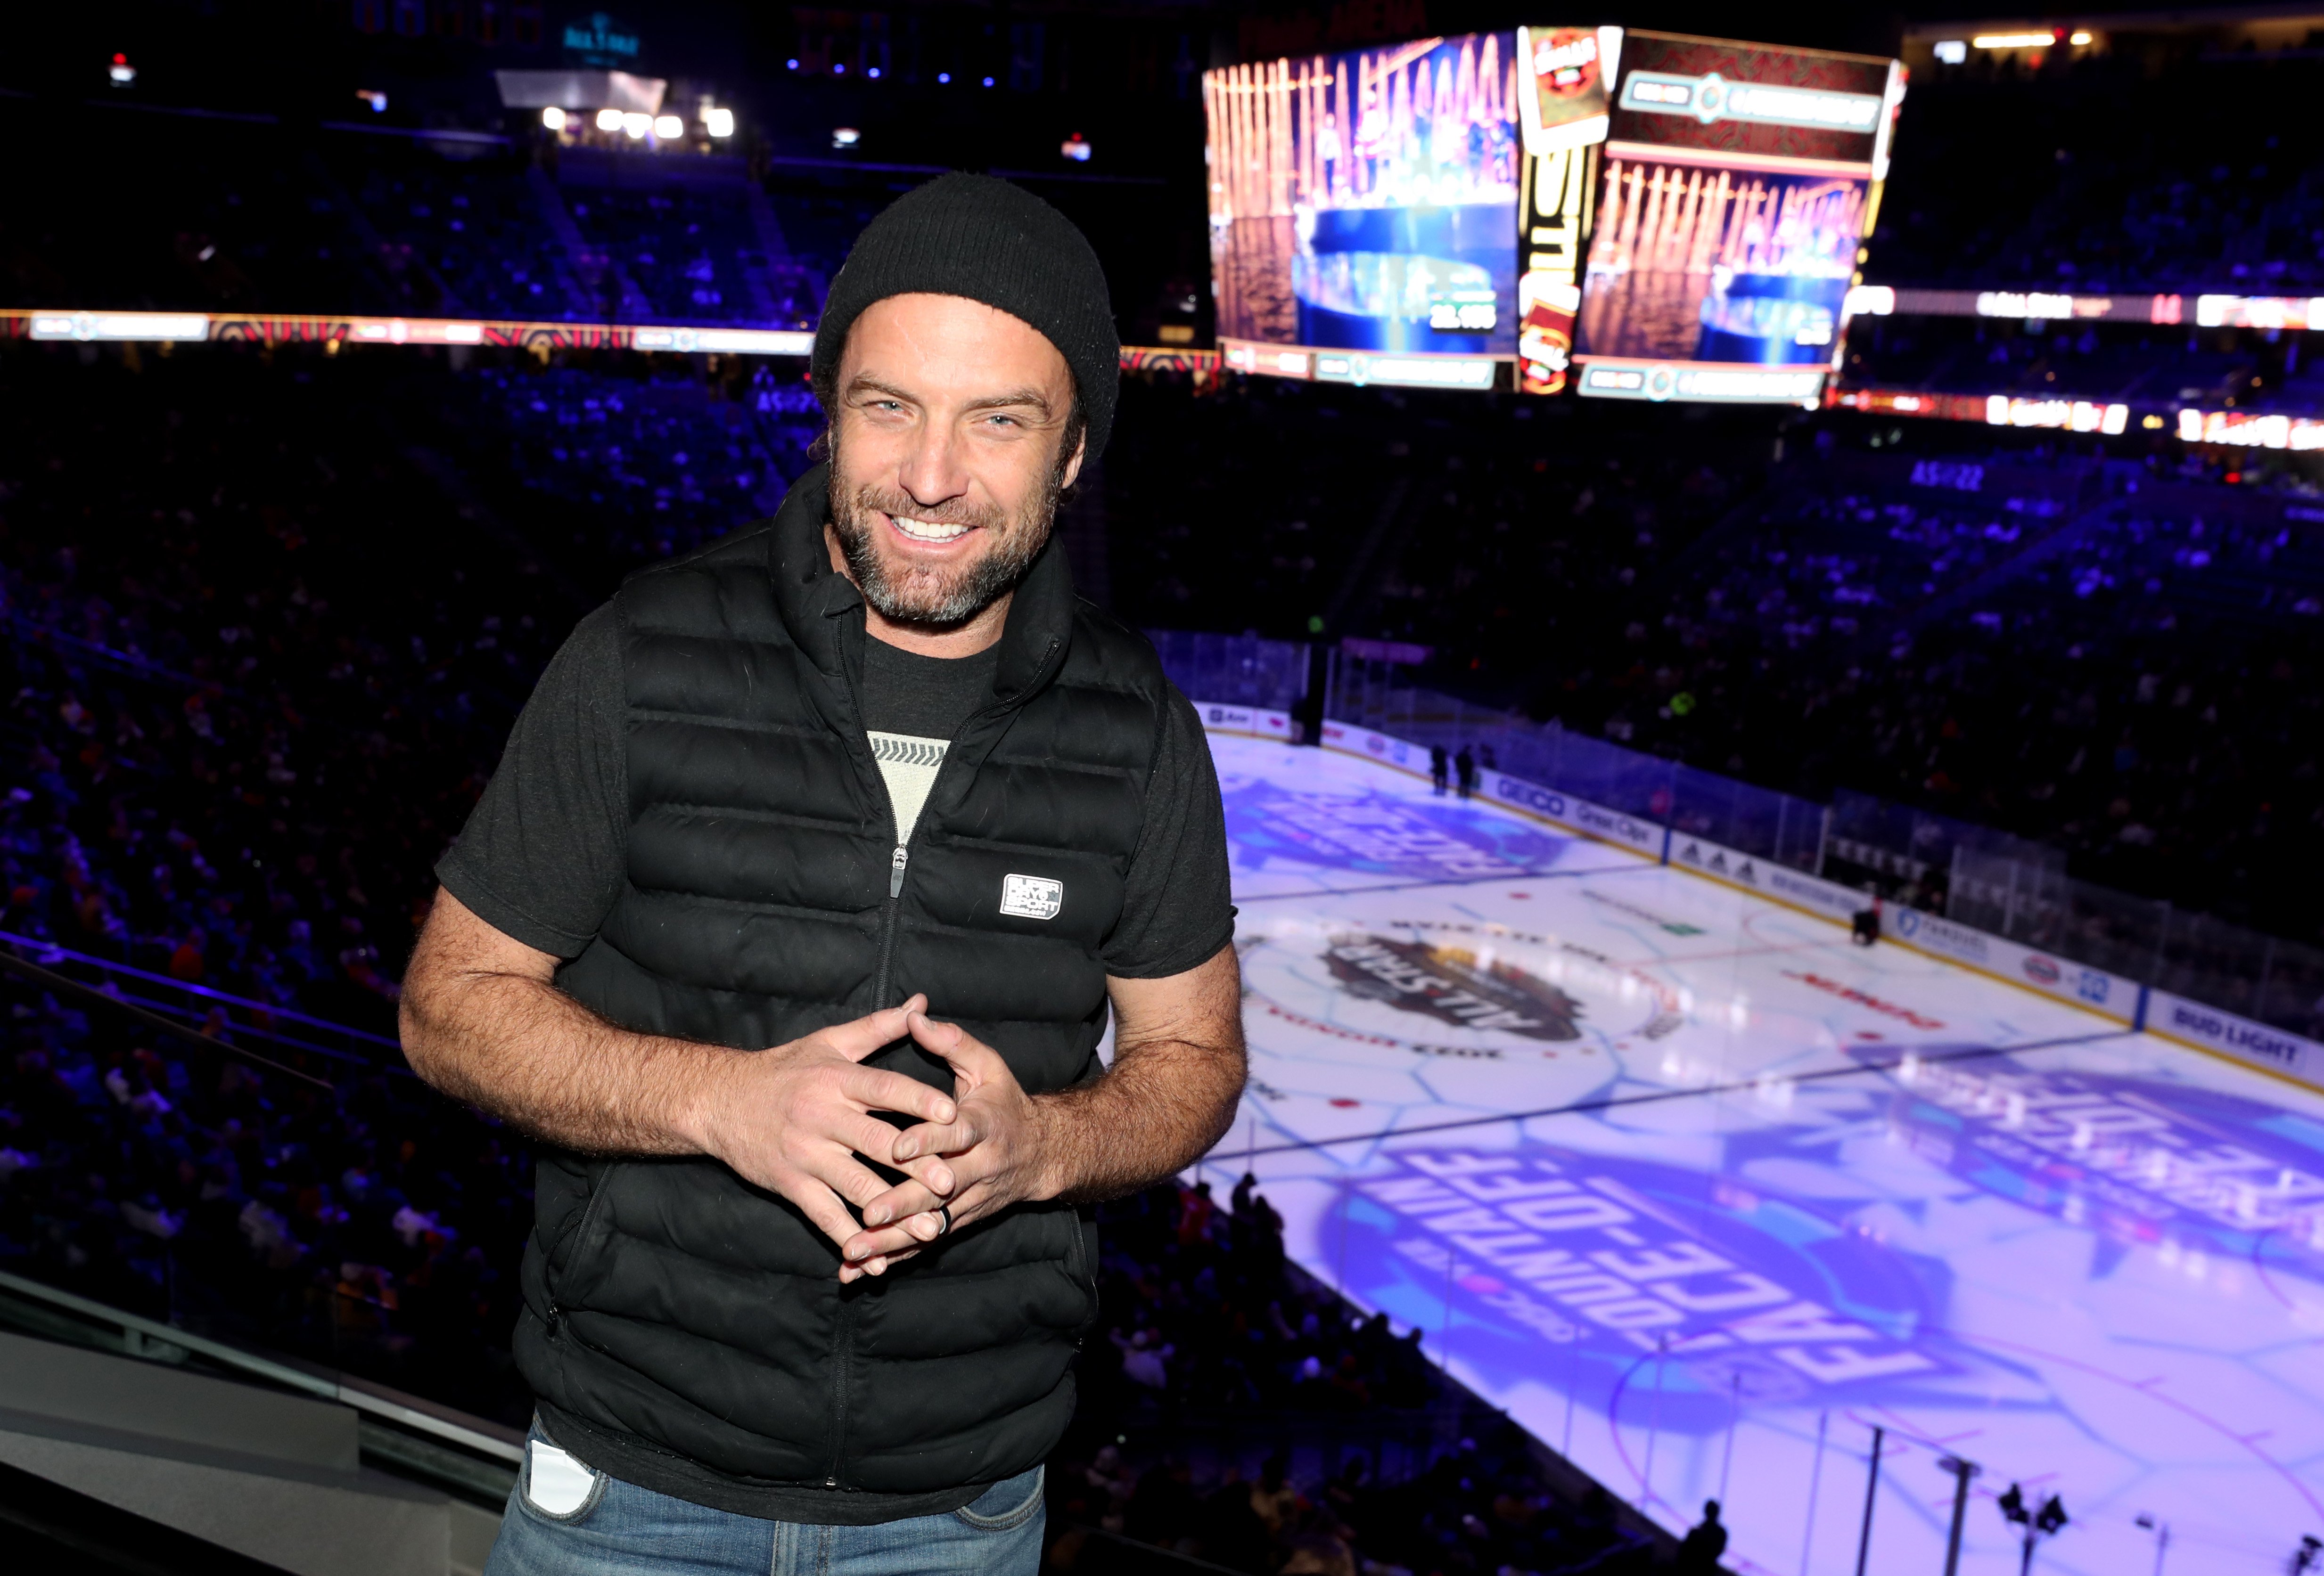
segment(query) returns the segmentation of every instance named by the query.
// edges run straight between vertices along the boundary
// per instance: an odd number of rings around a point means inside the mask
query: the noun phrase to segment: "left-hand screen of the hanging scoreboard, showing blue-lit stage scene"
[[[1227,365],[1492,388],[1518,349],[1515,33],[1204,74]]]

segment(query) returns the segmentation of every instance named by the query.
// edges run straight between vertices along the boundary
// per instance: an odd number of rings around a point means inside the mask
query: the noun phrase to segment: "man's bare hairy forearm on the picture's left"
[[[723,1046],[632,1034],[546,981],[430,969],[402,1007],[411,1069],[525,1132],[604,1155],[702,1151]]]

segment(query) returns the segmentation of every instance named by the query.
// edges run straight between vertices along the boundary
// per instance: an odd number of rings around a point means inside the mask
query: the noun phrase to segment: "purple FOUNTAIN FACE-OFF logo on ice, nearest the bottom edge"
[[[1545,1144],[1390,1160],[1325,1225],[1348,1234],[1350,1290],[1429,1330],[1450,1295],[1459,1357],[1501,1378],[1555,1371],[1543,1341],[1613,1369],[1664,1353],[1664,1423],[1687,1430],[1722,1425],[1736,1388],[1848,1395],[1952,1367],[1920,1339],[1943,1267],[1785,1199],[1713,1197],[1697,1172]]]

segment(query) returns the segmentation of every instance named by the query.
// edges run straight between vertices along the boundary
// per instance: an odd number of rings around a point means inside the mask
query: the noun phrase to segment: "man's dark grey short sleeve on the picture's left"
[[[630,837],[621,616],[574,625],[437,881],[525,946],[576,958],[621,893]]]

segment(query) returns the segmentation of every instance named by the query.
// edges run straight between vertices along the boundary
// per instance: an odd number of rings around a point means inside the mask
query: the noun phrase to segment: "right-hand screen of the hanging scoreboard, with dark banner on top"
[[[1901,95],[1896,60],[1627,33],[1597,149],[1578,391],[1817,402]]]

